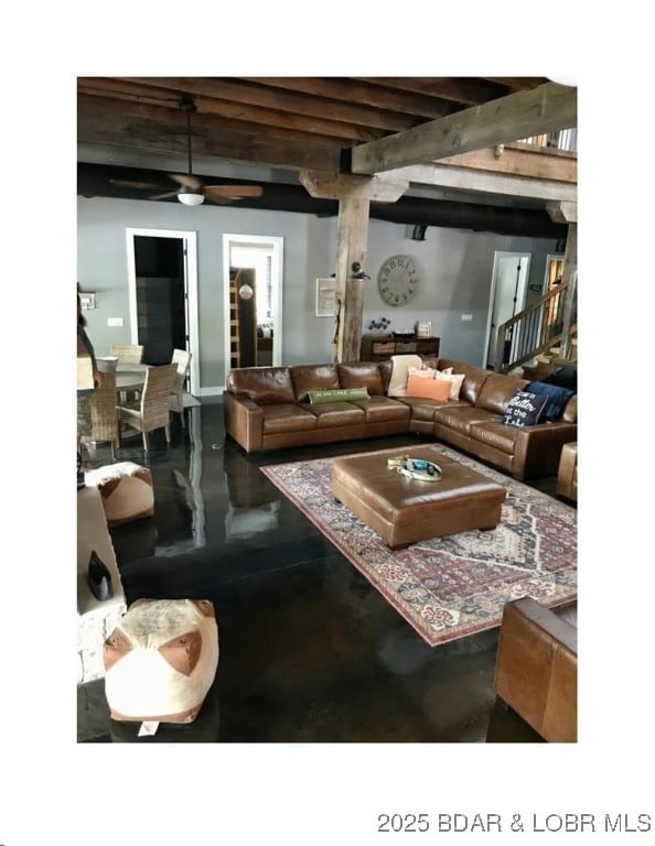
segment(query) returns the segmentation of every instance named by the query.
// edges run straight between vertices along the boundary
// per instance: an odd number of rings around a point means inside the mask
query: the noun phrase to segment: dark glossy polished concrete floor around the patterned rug
[[[429,647],[259,471],[278,464],[420,443],[394,436],[246,455],[219,400],[174,415],[172,443],[124,438],[116,460],[148,466],[153,518],[111,531],[128,605],[204,598],[221,657],[196,720],[109,718],[104,682],[77,688],[77,740],[89,742],[524,742],[539,738],[496,701],[497,629]],[[428,440],[428,438],[422,438]],[[108,445],[85,465],[111,463]],[[538,482],[552,495],[555,479]]]

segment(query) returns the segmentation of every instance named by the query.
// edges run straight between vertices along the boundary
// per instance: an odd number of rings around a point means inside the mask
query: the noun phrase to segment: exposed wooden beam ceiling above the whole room
[[[302,171],[384,173],[406,181],[407,195],[546,214],[547,203],[575,199],[577,156],[512,142],[575,127],[576,94],[544,77],[79,77],[78,191],[165,192],[169,173],[186,172],[180,105],[192,97],[193,170],[214,182],[266,191],[300,186]],[[92,178],[86,165],[105,170]],[[108,165],[161,171],[161,187],[117,193],[117,172],[101,181]]]

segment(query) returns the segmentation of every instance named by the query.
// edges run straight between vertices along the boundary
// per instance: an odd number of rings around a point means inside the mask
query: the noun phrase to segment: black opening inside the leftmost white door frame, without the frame
[[[165,365],[173,349],[187,348],[183,240],[135,236],[135,270],[143,361]]]

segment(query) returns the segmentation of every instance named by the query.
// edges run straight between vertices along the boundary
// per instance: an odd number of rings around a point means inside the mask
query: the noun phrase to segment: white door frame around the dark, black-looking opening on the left
[[[200,394],[200,360],[197,337],[197,232],[178,229],[135,229],[126,228],[127,260],[128,260],[128,292],[130,314],[130,339],[132,344],[139,340],[139,324],[137,321],[137,267],[135,261],[135,237],[178,238],[184,248],[184,294],[186,297],[186,334],[189,335],[189,351],[191,365],[189,377],[191,393]]]

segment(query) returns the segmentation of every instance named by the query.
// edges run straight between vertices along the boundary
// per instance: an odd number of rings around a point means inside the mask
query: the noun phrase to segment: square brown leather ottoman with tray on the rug
[[[441,467],[441,479],[402,476],[387,467],[387,459],[396,455],[434,462]],[[494,529],[506,495],[502,485],[429,445],[400,448],[397,454],[385,451],[335,458],[332,492],[391,550],[428,538]]]

